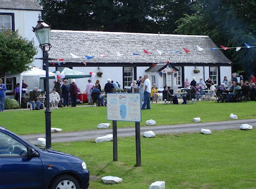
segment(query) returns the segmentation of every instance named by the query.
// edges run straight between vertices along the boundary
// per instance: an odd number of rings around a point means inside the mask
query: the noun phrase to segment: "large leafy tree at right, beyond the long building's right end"
[[[256,45],[256,2],[235,0],[198,0],[193,13],[177,21],[175,33],[206,34],[216,45],[243,47],[244,43]],[[256,49],[225,50],[234,63],[233,71],[256,72]]]

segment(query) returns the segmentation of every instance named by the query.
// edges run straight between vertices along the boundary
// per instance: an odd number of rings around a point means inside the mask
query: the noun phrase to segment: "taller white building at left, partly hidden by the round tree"
[[[35,34],[32,31],[32,27],[35,27],[38,21],[38,15],[42,15],[42,7],[37,0],[1,0],[0,1],[0,32],[2,28],[10,28],[13,31],[19,30],[19,34],[27,38],[28,40],[34,40],[35,47],[38,47],[38,54],[36,57],[42,57],[42,50],[39,48],[38,41]],[[35,60],[32,66],[42,67],[42,61]],[[4,84],[8,91],[6,94],[13,93],[13,89],[17,82],[20,81],[19,75],[13,75],[4,78]],[[29,86],[33,88],[35,86],[34,79],[24,78]]]

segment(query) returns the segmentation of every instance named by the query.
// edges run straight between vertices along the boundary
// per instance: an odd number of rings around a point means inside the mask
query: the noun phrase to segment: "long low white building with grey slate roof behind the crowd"
[[[199,77],[210,77],[216,85],[224,76],[231,79],[231,61],[209,36],[52,30],[51,45],[49,56],[63,59],[50,63],[51,72],[60,67],[86,74],[100,70],[102,77],[95,77],[93,82],[100,79],[101,85],[110,78],[122,87],[130,86],[132,80],[145,73],[157,87],[173,89],[183,87],[186,78],[191,81],[196,77],[199,82]],[[199,51],[196,45],[204,50]],[[186,53],[182,48],[191,51]],[[81,79],[77,84],[85,89],[87,80]]]

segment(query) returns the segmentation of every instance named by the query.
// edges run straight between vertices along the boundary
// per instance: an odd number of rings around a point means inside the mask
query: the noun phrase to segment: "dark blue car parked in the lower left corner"
[[[86,163],[43,149],[0,126],[0,188],[88,188]]]

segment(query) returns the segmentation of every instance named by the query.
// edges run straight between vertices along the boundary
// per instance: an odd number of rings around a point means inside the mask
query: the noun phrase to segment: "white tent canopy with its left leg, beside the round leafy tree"
[[[20,73],[20,99],[21,99],[21,93],[22,93],[22,80],[23,77],[46,77],[46,72],[45,70],[41,70],[39,68],[35,68],[35,67],[30,67],[29,70],[24,71],[22,73]],[[49,72],[49,77],[54,76],[56,78],[56,74]],[[20,104],[21,104],[21,100],[20,100]]]

